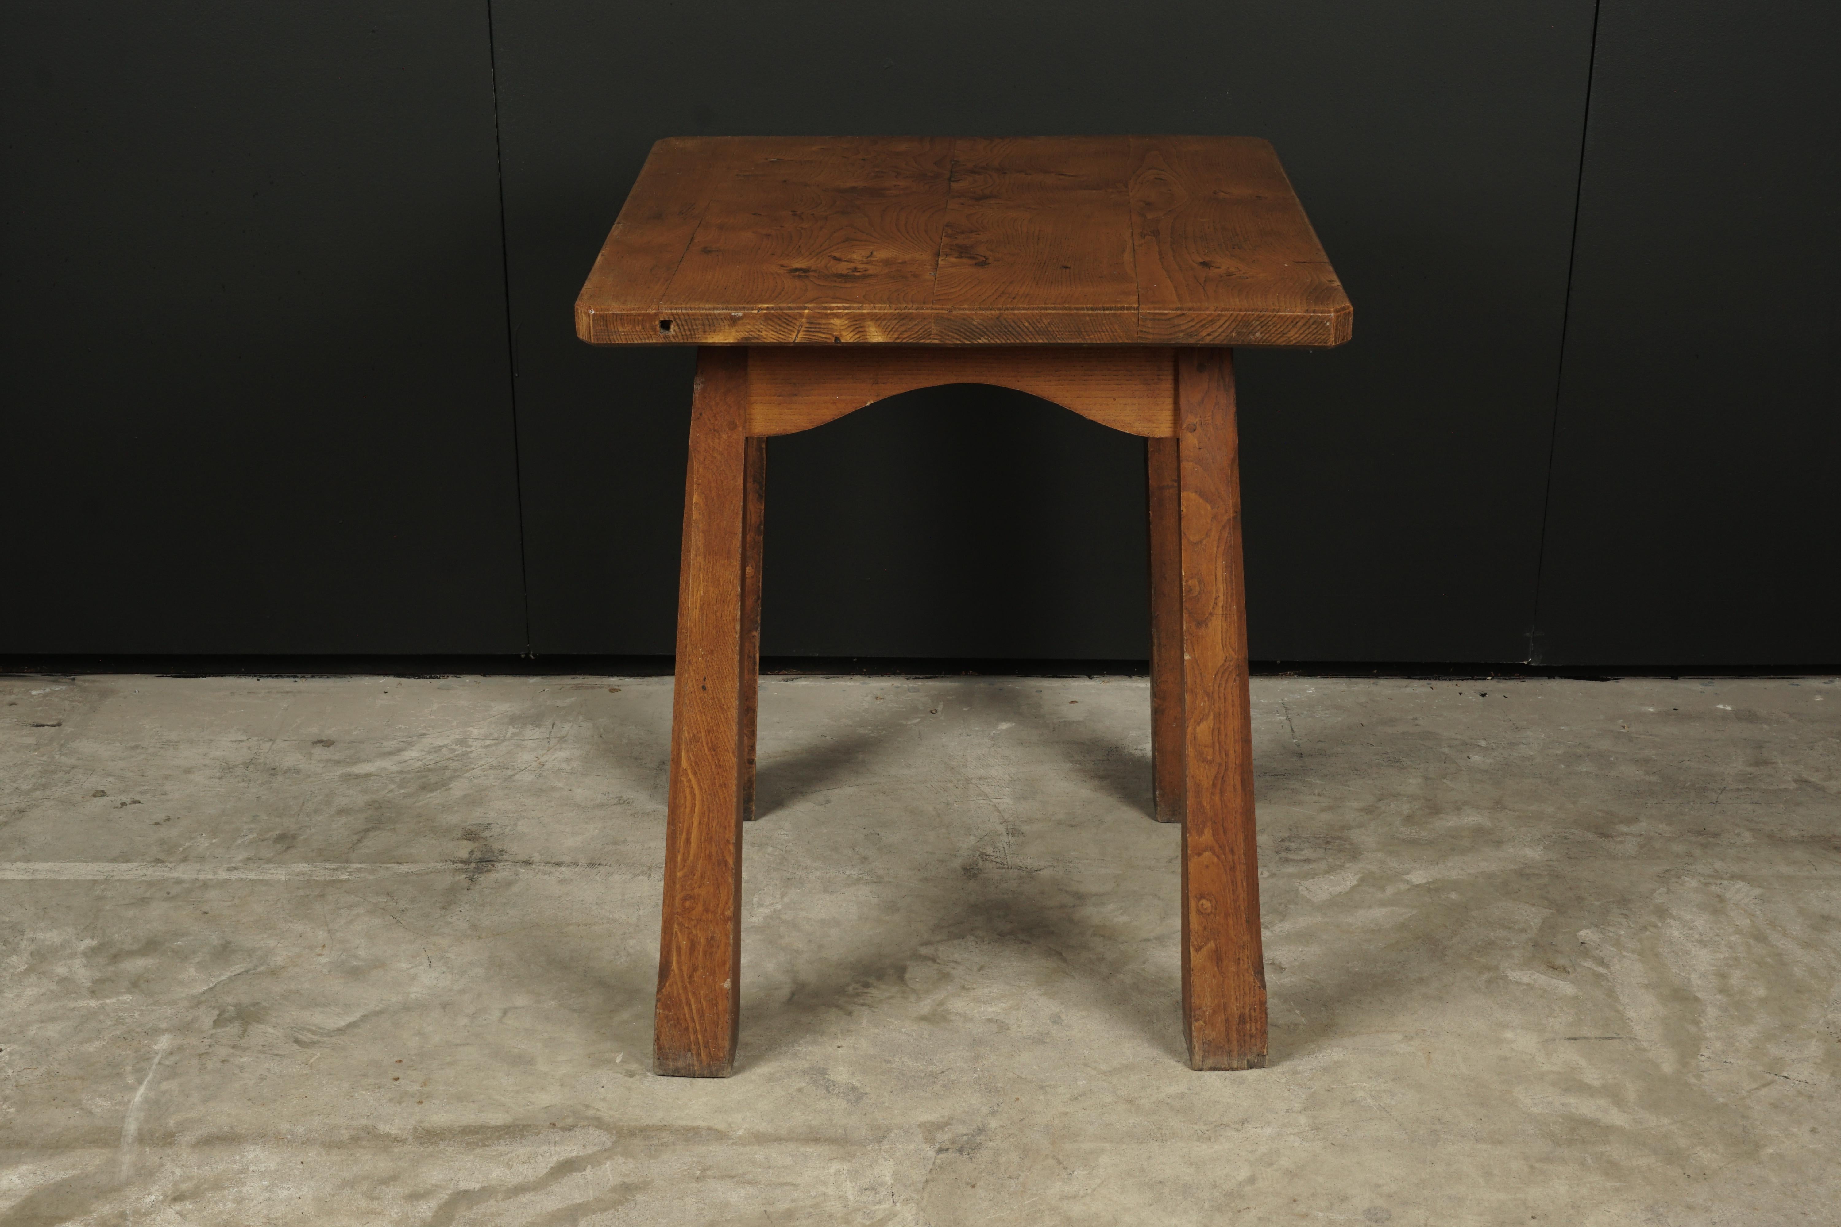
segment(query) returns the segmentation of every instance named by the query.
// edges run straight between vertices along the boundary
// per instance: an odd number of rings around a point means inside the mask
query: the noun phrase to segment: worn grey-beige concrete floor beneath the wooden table
[[[1195,1074],[1143,681],[770,679],[731,1080],[668,679],[0,679],[0,1225],[1837,1223],[1841,684],[1254,684]]]

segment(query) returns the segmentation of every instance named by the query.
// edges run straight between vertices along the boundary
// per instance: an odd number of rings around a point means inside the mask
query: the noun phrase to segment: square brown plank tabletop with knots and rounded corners
[[[1349,304],[1248,136],[685,136],[576,302],[595,344],[1333,346]]]

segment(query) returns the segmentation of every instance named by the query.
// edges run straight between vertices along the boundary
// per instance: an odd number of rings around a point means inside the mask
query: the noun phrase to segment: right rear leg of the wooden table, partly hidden
[[[1145,440],[1151,521],[1151,793],[1182,822],[1182,519],[1175,438]]]

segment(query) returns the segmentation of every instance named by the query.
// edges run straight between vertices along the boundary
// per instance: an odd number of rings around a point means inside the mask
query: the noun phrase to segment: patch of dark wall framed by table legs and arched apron
[[[771,440],[762,640],[1143,657],[1143,440],[1007,388],[913,392]]]

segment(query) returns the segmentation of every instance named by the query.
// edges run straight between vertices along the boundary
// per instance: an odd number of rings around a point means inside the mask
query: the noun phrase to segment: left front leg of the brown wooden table
[[[740,1006],[747,350],[698,351],[677,581],[654,1069],[716,1078]]]

